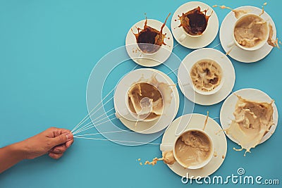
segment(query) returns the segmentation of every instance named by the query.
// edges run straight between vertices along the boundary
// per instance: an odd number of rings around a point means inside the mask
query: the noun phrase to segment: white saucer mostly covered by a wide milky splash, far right
[[[224,103],[221,106],[221,111],[220,111],[220,121],[221,121],[221,126],[223,130],[228,129],[231,124],[231,120],[234,120],[234,115],[233,112],[235,111],[235,105],[238,101],[238,97],[235,96],[235,94],[238,94],[239,96],[242,96],[244,99],[252,100],[252,101],[264,101],[267,103],[271,102],[270,96],[268,96],[266,93],[258,90],[258,89],[240,89],[230,96],[224,101]],[[262,141],[259,144],[262,144],[265,142],[271,135],[274,133],[276,126],[278,124],[278,111],[276,105],[273,103],[272,104],[274,108],[274,115],[273,115],[273,120],[274,120],[274,125],[271,126],[271,129],[269,132],[267,132],[264,137],[262,137]],[[234,139],[231,134],[226,134],[229,139],[231,139],[233,142],[238,144],[238,141]]]

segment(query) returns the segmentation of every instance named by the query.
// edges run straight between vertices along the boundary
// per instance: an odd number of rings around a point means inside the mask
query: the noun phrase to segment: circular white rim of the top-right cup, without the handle
[[[262,20],[264,20],[264,18],[262,18],[261,16],[255,14],[255,13],[247,13],[247,14],[245,14],[245,15],[242,15],[240,18],[238,18],[238,20],[236,20],[236,22],[235,22],[234,25],[233,25],[232,37],[233,37],[234,43],[235,43],[236,46],[238,46],[240,49],[243,49],[243,50],[246,50],[246,51],[255,51],[255,50],[257,50],[257,49],[261,49],[262,46],[264,46],[264,44],[266,44],[268,37],[266,37],[266,38],[264,39],[264,41],[260,42],[260,44],[257,44],[256,46],[252,46],[251,48],[247,48],[247,47],[245,47],[245,46],[240,45],[240,44],[237,42],[237,40],[235,39],[235,35],[234,35],[234,29],[235,29],[235,26],[237,25],[237,23],[238,23],[241,19],[243,19],[243,18],[245,18],[245,17],[247,17],[247,16],[250,16],[250,15],[255,15],[255,16],[261,18]],[[265,20],[264,20],[264,21],[265,21]],[[267,33],[269,33],[269,25],[266,25],[266,27],[267,27]]]

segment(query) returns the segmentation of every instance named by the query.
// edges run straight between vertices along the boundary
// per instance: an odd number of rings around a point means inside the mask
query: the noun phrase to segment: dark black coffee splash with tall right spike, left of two
[[[166,21],[169,15],[171,15],[171,13],[169,13],[168,16],[166,17],[166,20],[164,21],[163,25],[161,25],[160,30],[157,30],[147,25],[148,23],[147,16],[143,29],[140,27],[136,27],[137,33],[134,33],[133,30],[131,29],[131,31],[135,35],[137,45],[143,53],[154,54],[161,48],[162,44],[166,45],[166,43],[164,42],[164,39],[166,38],[166,33],[163,34],[163,29],[164,26],[166,25]]]

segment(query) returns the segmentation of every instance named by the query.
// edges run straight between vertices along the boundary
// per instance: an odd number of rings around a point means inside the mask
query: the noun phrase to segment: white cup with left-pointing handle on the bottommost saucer
[[[184,163],[182,163],[180,161],[180,159],[178,158],[178,156],[176,155],[176,142],[178,141],[178,139],[180,139],[180,137],[183,135],[183,134],[186,134],[187,132],[191,132],[191,131],[197,131],[197,132],[201,132],[202,134],[204,134],[207,139],[209,139],[209,142],[211,144],[210,146],[210,153],[209,153],[209,157],[205,160],[205,161],[202,161],[202,163],[199,163],[197,165],[191,165],[191,166],[187,166],[185,165]],[[184,168],[188,168],[188,169],[199,169],[199,168],[202,168],[204,167],[205,165],[207,165],[209,163],[209,161],[212,160],[212,157],[214,156],[214,143],[212,142],[212,138],[209,136],[209,134],[207,134],[207,132],[204,132],[203,130],[200,130],[200,129],[190,129],[190,130],[186,130],[185,132],[183,132],[182,134],[178,135],[175,139],[175,141],[173,142],[173,144],[161,144],[161,150],[162,151],[167,151],[168,148],[171,149],[171,147],[173,147],[173,156],[174,158],[176,159],[176,161],[181,165],[183,166]]]

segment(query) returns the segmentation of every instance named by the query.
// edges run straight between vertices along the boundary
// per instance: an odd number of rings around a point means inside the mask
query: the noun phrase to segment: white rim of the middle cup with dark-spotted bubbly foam
[[[195,65],[195,63],[198,63],[199,61],[204,61],[204,60],[210,60],[210,61],[214,61],[215,63],[217,63],[217,65],[219,65],[219,67],[221,68],[221,72],[222,72],[222,78],[221,78],[221,83],[214,89],[212,89],[211,91],[209,92],[204,92],[204,91],[201,91],[200,89],[197,89],[193,82],[192,82],[192,79],[191,79],[191,76],[190,76],[190,72],[191,72],[191,69],[192,67]],[[190,85],[192,87],[192,89],[197,92],[198,94],[202,94],[202,95],[211,95],[211,94],[215,94],[216,92],[219,92],[219,90],[222,88],[223,84],[224,84],[224,73],[223,73],[223,68],[221,66],[220,63],[218,63],[217,61],[215,61],[214,59],[212,58],[201,58],[200,60],[198,61],[195,61],[194,63],[192,63],[192,65],[190,66],[190,70],[189,70],[189,80],[190,80]]]

